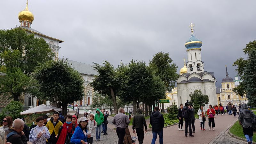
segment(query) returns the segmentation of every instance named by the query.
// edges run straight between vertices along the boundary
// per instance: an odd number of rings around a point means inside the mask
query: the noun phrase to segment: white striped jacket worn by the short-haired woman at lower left
[[[40,138],[37,139],[36,136],[43,130],[45,130],[45,133]],[[44,142],[46,143],[46,139],[49,139],[50,136],[50,132],[46,126],[39,127],[38,125],[36,125],[36,127],[34,127],[30,131],[29,141],[32,142],[33,144],[43,144]],[[41,142],[42,138],[44,139],[44,142]]]

